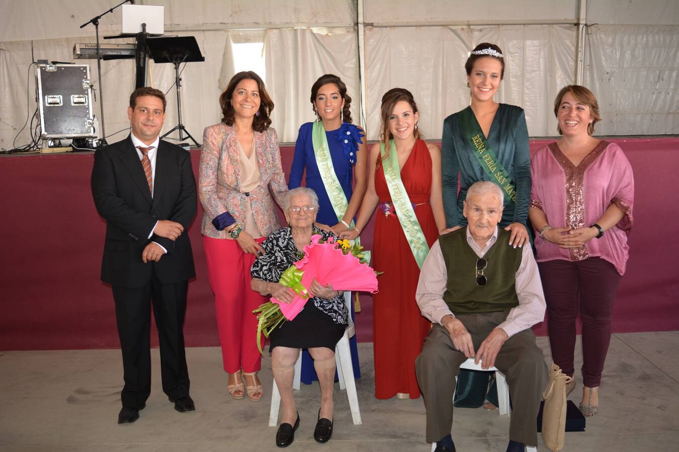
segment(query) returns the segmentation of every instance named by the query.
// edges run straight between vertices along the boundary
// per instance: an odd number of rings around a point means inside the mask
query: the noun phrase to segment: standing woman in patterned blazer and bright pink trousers
[[[223,119],[206,127],[200,153],[203,244],[227,388],[233,398],[247,395],[256,401],[263,390],[253,309],[267,298],[251,289],[250,267],[263,253],[260,244],[280,228],[272,194],[282,206],[288,188],[278,137],[269,127],[274,102],[259,76],[252,71],[234,75],[219,104]]]

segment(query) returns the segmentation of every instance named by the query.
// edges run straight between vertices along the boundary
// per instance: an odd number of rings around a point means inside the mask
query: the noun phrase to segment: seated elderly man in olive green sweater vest
[[[439,237],[420,274],[416,299],[434,323],[416,361],[426,406],[426,440],[455,451],[451,436],[455,377],[475,356],[507,377],[513,403],[507,451],[536,447],[536,416],[547,365],[530,327],[543,320],[545,296],[529,246],[511,247],[498,228],[502,189],[469,188],[462,213],[469,226]]]

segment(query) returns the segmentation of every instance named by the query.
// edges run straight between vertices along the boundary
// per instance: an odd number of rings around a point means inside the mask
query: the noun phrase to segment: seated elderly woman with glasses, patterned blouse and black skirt
[[[261,244],[265,254],[255,260],[251,274],[253,290],[289,303],[295,293],[278,283],[282,272],[299,260],[304,246],[311,243],[312,235],[320,234],[323,241],[334,236],[332,232],[314,226],[318,213],[318,197],[314,190],[306,187],[290,190],[285,196],[284,207],[289,226],[272,232]],[[342,292],[331,285],[320,285],[314,279],[308,291],[311,297],[304,309],[270,335],[271,368],[282,404],[282,423],[276,433],[278,447],[291,445],[299,426],[299,413],[293,399],[293,375],[300,348],[308,348],[314,358],[320,383],[320,410],[314,439],[325,443],[333,432],[335,346],[344,335],[348,308]]]

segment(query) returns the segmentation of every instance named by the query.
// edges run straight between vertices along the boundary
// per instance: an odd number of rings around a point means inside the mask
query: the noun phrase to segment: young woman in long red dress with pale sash
[[[415,358],[430,324],[420,314],[415,290],[424,257],[445,229],[441,150],[420,139],[418,119],[407,89],[393,88],[382,96],[382,142],[372,146],[369,157],[373,177],[356,228],[341,234],[355,239],[379,205],[372,254],[373,268],[384,272],[378,278],[380,291],[373,296],[377,398],[420,396]]]

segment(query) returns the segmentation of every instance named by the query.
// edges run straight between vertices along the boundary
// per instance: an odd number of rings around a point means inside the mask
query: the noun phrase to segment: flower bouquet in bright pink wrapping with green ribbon
[[[259,337],[264,333],[269,337],[271,331],[286,320],[293,320],[304,308],[309,299],[307,287],[315,278],[321,285],[332,285],[335,290],[378,291],[375,272],[366,263],[366,254],[358,243],[352,245],[348,240],[335,241],[330,237],[320,241],[314,234],[311,243],[304,247],[304,255],[280,276],[278,283],[290,287],[295,292],[291,303],[283,303],[272,297],[253,310],[257,314],[257,347],[263,352]]]

